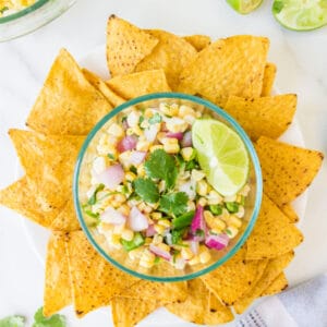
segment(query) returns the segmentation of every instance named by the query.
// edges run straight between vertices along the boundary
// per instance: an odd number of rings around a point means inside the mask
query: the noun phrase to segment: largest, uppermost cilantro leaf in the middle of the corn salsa
[[[165,180],[168,189],[174,186],[178,170],[173,157],[165,150],[157,149],[152,153],[144,164],[144,169],[149,178]]]

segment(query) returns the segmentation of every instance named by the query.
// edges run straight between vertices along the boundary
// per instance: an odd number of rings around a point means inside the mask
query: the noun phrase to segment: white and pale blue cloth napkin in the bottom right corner
[[[327,327],[327,274],[268,298],[237,327]]]

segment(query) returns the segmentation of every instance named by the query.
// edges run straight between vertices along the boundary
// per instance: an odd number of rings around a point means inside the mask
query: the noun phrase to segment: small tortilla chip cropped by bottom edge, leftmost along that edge
[[[134,327],[160,306],[156,300],[113,298],[111,315],[114,327]]]

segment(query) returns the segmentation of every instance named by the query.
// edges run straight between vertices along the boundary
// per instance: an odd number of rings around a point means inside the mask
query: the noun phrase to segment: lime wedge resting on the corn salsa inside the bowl
[[[197,119],[192,126],[192,141],[211,186],[225,196],[238,193],[246,183],[250,167],[241,137],[217,120]]]

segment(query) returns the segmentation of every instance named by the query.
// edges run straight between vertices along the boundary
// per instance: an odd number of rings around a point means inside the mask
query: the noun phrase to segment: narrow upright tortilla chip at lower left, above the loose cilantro
[[[52,233],[48,242],[44,294],[44,315],[46,317],[72,303],[65,243],[64,232]]]

